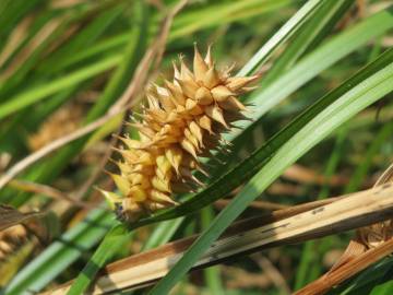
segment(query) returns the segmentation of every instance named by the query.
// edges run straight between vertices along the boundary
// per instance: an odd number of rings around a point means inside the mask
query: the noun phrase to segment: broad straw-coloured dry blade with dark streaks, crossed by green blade
[[[393,185],[275,211],[230,226],[193,269],[269,247],[300,243],[373,224],[389,219],[392,212]],[[195,238],[174,241],[108,266],[96,280],[92,293],[140,288],[154,283],[169,271]],[[50,294],[64,294],[70,284]]]

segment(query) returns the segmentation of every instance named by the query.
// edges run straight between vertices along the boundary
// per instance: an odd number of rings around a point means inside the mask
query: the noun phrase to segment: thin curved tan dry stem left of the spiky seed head
[[[151,64],[154,62],[154,67],[157,67],[157,64],[159,64],[160,62],[162,55],[164,54],[163,48],[165,48],[165,43],[168,36],[169,27],[172,23],[172,19],[187,3],[188,0],[179,1],[179,3],[168,13],[157,38],[138,66],[134,74],[135,79],[130,82],[129,86],[126,88],[121,97],[117,101],[116,104],[110,107],[106,115],[75,130],[74,132],[71,132],[58,140],[52,141],[50,144],[45,145],[37,152],[32,153],[25,158],[15,163],[0,177],[0,189],[2,189],[11,179],[17,176],[21,172],[23,172],[40,158],[49,155],[50,153],[68,144],[69,142],[88,134],[90,132],[96,130],[97,128],[106,123],[111,118],[124,113],[126,109],[134,106],[138,103],[138,101],[134,98],[138,96],[139,92],[145,86],[145,83],[148,80],[150,75],[147,73],[150,73]]]

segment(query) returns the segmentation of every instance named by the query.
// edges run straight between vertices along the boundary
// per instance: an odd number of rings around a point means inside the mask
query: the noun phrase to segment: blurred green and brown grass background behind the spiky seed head
[[[217,62],[235,63],[237,72],[305,2],[191,1],[174,19],[160,74],[156,75],[158,83],[162,76],[170,76],[171,62],[178,55],[192,58],[195,42],[202,51],[213,44]],[[289,40],[275,52],[263,67],[267,74],[261,80],[261,88],[335,36],[381,11],[392,11],[391,1],[338,2],[342,4],[331,12],[331,17],[324,20],[322,14],[320,22],[314,20],[305,26],[303,36],[298,33],[293,43]],[[162,27],[163,17],[176,3],[0,1],[0,174],[56,139],[104,116],[126,90]],[[372,30],[378,33],[372,35]],[[249,155],[317,98],[392,46],[391,26],[369,31],[365,32],[370,35],[365,43],[305,82],[254,128],[243,132],[227,160],[229,164]],[[337,51],[356,40],[348,38],[346,43]],[[371,187],[386,164],[393,162],[391,98],[386,96],[365,109],[302,156],[242,217]],[[119,114],[97,130],[40,157],[1,189],[3,204],[22,212],[50,212],[29,222],[27,229],[16,225],[0,233],[1,286],[10,286],[16,275],[8,290],[10,294],[41,291],[75,278],[112,224],[114,215],[104,208],[94,186],[112,186],[100,164],[108,153],[111,134],[122,120],[123,114]],[[114,169],[110,163],[106,167]],[[112,260],[199,233],[225,204],[226,200],[221,200],[207,211],[171,224],[169,229],[163,224],[142,227]],[[83,222],[86,216],[91,223]],[[160,239],[152,240],[154,233]],[[287,294],[327,271],[352,236],[347,233],[274,248],[195,271],[174,294]],[[384,281],[372,294],[393,292],[391,284],[382,284]]]

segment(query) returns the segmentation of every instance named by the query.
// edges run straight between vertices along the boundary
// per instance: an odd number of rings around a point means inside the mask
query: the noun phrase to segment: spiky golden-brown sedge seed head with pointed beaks
[[[203,170],[200,156],[219,145],[221,134],[235,120],[243,118],[246,107],[237,96],[259,76],[229,76],[218,71],[209,48],[203,59],[195,46],[193,72],[180,58],[174,64],[174,81],[153,85],[146,94],[138,129],[140,141],[120,138],[120,174],[110,174],[121,196],[103,191],[119,219],[131,222],[142,215],[177,204],[174,194],[203,185],[194,170]]]

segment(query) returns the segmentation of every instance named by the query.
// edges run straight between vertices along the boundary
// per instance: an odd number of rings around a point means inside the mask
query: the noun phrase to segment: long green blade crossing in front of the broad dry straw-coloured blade
[[[238,196],[218,214],[170,272],[150,294],[167,294],[190,270],[210,245],[216,240],[248,204],[260,196],[290,164],[322,141],[330,132],[358,111],[393,91],[393,50],[359,71],[341,87],[322,97],[299,118],[306,125],[284,143],[277,153],[255,174]],[[311,115],[318,104],[322,109]],[[298,119],[299,120],[299,119]],[[296,123],[289,123],[288,128]]]

